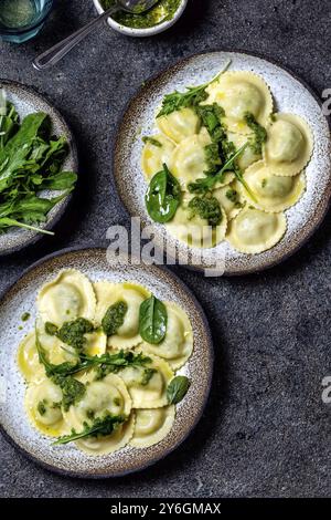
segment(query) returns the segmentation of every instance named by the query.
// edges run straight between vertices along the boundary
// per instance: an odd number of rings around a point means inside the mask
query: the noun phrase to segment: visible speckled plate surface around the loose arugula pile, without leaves
[[[6,90],[8,100],[15,105],[21,118],[32,112],[45,112],[50,115],[53,125],[53,133],[57,136],[64,135],[70,144],[70,154],[63,165],[63,169],[77,171],[78,159],[74,136],[62,115],[43,96],[38,94],[31,87],[12,81],[0,80],[0,90],[1,89]],[[47,197],[47,191],[43,195]],[[54,191],[52,196],[54,196]],[[61,200],[50,211],[46,222],[41,227],[51,230],[63,216],[70,200],[71,195]],[[0,235],[0,256],[19,251],[20,249],[34,243],[42,237],[42,233],[23,229],[12,229],[9,232],[2,233]]]

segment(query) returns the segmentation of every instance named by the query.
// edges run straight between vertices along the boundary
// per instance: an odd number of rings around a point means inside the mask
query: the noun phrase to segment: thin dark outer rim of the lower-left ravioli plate
[[[34,269],[39,268],[43,263],[45,263],[49,260],[52,260],[54,258],[58,258],[58,257],[65,256],[67,253],[73,253],[73,252],[78,252],[78,251],[87,251],[87,250],[103,250],[103,251],[106,252],[107,247],[105,247],[105,245],[103,245],[102,242],[97,242],[97,243],[93,243],[93,245],[83,243],[83,245],[79,245],[79,246],[71,246],[71,247],[67,247],[67,248],[64,248],[64,249],[60,249],[58,251],[53,251],[50,254],[46,254],[45,257],[42,257],[41,259],[36,260],[31,266],[29,266],[26,269],[24,269],[21,274],[17,275],[14,278],[13,282],[11,282],[7,288],[4,288],[2,291],[0,291],[0,305],[3,301],[3,299],[8,295],[8,293],[12,289],[14,289],[15,284],[18,282],[20,282],[26,274],[30,274]],[[131,259],[132,256],[129,254],[128,258]],[[52,471],[53,474],[61,475],[61,476],[64,476],[64,477],[70,477],[70,478],[102,480],[102,479],[113,479],[113,478],[118,478],[118,477],[126,477],[127,475],[132,475],[132,474],[136,474],[136,472],[143,471],[147,468],[149,468],[151,466],[154,466],[156,464],[158,464],[161,460],[166,459],[169,455],[171,455],[173,451],[175,451],[190,437],[190,435],[192,435],[192,433],[196,428],[197,424],[200,423],[200,420],[201,420],[201,418],[204,414],[204,410],[205,410],[205,408],[207,406],[207,403],[209,403],[209,399],[210,399],[210,394],[211,394],[211,389],[212,389],[212,382],[213,382],[213,375],[214,375],[214,370],[215,370],[215,349],[214,349],[212,331],[211,331],[210,323],[209,323],[209,320],[206,318],[206,314],[204,312],[204,309],[203,309],[202,304],[199,302],[199,300],[196,299],[194,292],[179,278],[179,275],[177,273],[171,271],[166,266],[156,266],[156,264],[153,264],[152,267],[156,269],[156,271],[158,271],[158,270],[166,271],[168,273],[168,275],[172,277],[175,280],[175,282],[180,285],[180,288],[182,290],[184,290],[190,295],[190,298],[194,302],[195,309],[199,312],[199,314],[202,319],[204,329],[205,329],[205,334],[206,334],[207,344],[209,344],[209,357],[210,357],[211,370],[207,374],[207,386],[206,386],[206,391],[205,391],[205,395],[204,395],[204,401],[203,401],[202,406],[199,410],[199,414],[196,415],[196,418],[194,420],[194,424],[193,424],[192,428],[189,431],[186,431],[186,434],[183,436],[182,439],[180,439],[173,446],[171,446],[171,448],[167,449],[164,453],[162,453],[159,457],[156,457],[153,460],[141,465],[137,469],[128,469],[128,470],[117,471],[117,472],[113,472],[113,474],[107,474],[106,471],[104,474],[98,474],[98,472],[87,474],[87,472],[83,472],[83,471],[71,471],[71,470],[67,470],[67,469],[62,469],[62,468],[58,468],[56,466],[53,466],[53,465],[50,465],[47,462],[44,462],[44,461],[40,460],[38,457],[32,455],[30,451],[22,448],[9,435],[9,433],[6,430],[2,423],[0,422],[0,434],[3,436],[3,438],[9,443],[10,446],[15,448],[21,455],[26,457],[33,464],[35,464],[35,465],[38,465],[38,466],[40,466],[44,469],[47,469],[49,471]],[[141,264],[137,266],[137,268],[138,269],[141,268]]]

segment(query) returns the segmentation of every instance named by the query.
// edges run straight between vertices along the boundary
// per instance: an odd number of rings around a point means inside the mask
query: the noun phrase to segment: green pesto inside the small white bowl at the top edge
[[[103,0],[104,9],[109,9],[116,4],[116,0]],[[159,23],[172,20],[181,0],[159,0],[159,2],[143,14],[131,14],[119,11],[111,18],[121,25],[132,29],[148,29]]]

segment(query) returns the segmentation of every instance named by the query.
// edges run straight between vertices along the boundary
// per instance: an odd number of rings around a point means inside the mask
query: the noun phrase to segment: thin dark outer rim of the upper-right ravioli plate
[[[292,76],[296,81],[301,83],[301,85],[309,92],[309,94],[314,98],[314,101],[318,103],[318,105],[320,107],[322,107],[322,101],[321,101],[320,96],[317,94],[314,89],[312,89],[312,86],[310,86],[309,83],[306,82],[306,80],[303,80],[300,75],[298,75],[296,72],[293,72],[287,65],[280,64],[277,60],[275,60],[274,58],[269,58],[267,54],[265,54],[263,52],[249,51],[249,50],[246,50],[246,49],[243,49],[243,48],[228,48],[228,46],[220,48],[220,46],[215,46],[215,48],[205,49],[201,52],[189,53],[184,58],[182,58],[180,60],[177,60],[174,63],[168,64],[167,66],[160,69],[157,73],[153,73],[153,74],[149,75],[147,77],[147,80],[145,80],[143,83],[141,85],[139,85],[138,89],[136,89],[136,91],[134,91],[134,94],[125,103],[125,105],[124,105],[122,110],[120,111],[120,114],[119,114],[119,116],[117,117],[117,121],[116,121],[115,139],[114,139],[113,147],[111,147],[111,153],[113,153],[111,176],[113,176],[113,179],[114,179],[114,183],[115,183],[115,187],[116,187],[118,198],[121,201],[121,205],[122,205],[126,214],[129,217],[135,217],[135,215],[131,215],[131,212],[129,211],[129,209],[127,207],[126,199],[121,196],[121,190],[118,188],[118,177],[115,174],[115,171],[117,169],[116,158],[117,158],[118,149],[120,148],[119,135],[121,133],[122,122],[124,122],[124,118],[125,118],[127,112],[130,110],[131,104],[134,104],[137,101],[137,98],[140,96],[140,94],[142,93],[142,91],[146,87],[149,87],[154,81],[157,81],[158,79],[161,79],[164,74],[169,73],[171,70],[174,70],[177,66],[185,65],[185,63],[189,63],[194,58],[199,58],[199,56],[202,56],[202,55],[205,55],[205,54],[215,54],[215,53],[220,53],[220,52],[229,53],[229,54],[244,54],[246,56],[258,58],[260,60],[269,62],[270,64],[284,70],[290,76]],[[325,118],[325,121],[328,123],[329,131],[331,131],[331,114],[330,115],[323,114],[323,117]],[[244,277],[244,275],[249,275],[249,274],[257,274],[259,272],[264,272],[264,271],[267,271],[269,269],[273,269],[274,267],[279,266],[282,262],[287,261],[289,258],[295,256],[303,246],[306,246],[306,243],[311,239],[311,237],[318,231],[318,229],[321,227],[322,222],[324,221],[325,216],[329,212],[330,208],[331,208],[331,193],[329,194],[329,198],[324,204],[323,211],[321,212],[319,221],[314,225],[313,228],[310,229],[310,231],[306,236],[305,240],[302,240],[291,251],[288,251],[287,253],[282,254],[282,257],[280,259],[270,261],[269,263],[264,264],[259,268],[254,268],[254,267],[250,268],[250,269],[246,268],[245,271],[226,271],[223,274],[217,275],[215,278],[217,278],[217,279],[220,279],[222,277],[237,278],[237,277]],[[142,228],[142,222],[141,222],[140,227]],[[154,243],[154,246],[156,246],[156,249],[158,249],[158,245]],[[178,263],[175,263],[175,264],[178,266]],[[195,264],[183,264],[182,266],[181,264],[181,267],[183,267],[184,269],[186,269],[189,271],[193,271],[193,272],[197,272],[197,273],[204,273],[204,271],[205,271],[205,268],[203,268],[202,266],[195,266]]]

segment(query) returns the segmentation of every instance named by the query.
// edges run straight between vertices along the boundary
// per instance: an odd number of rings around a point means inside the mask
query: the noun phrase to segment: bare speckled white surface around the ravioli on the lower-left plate
[[[161,300],[179,303],[188,313],[194,333],[194,352],[179,371],[192,385],[177,407],[177,418],[170,434],[158,445],[146,449],[127,447],[107,456],[88,456],[74,446],[52,446],[30,425],[23,397],[25,384],[18,370],[18,346],[33,329],[35,298],[40,287],[53,279],[61,269],[74,268],[92,281],[134,281],[149,288]],[[31,313],[22,323],[24,312]],[[20,330],[20,327],[23,327]],[[76,477],[115,477],[137,471],[166,457],[179,446],[196,425],[205,406],[213,371],[213,346],[204,313],[189,289],[170,271],[150,266],[118,263],[106,249],[64,250],[32,266],[7,291],[0,302],[0,424],[4,435],[24,454],[49,469]]]

